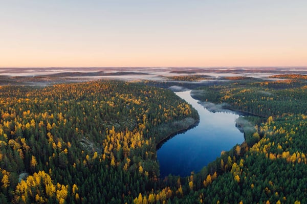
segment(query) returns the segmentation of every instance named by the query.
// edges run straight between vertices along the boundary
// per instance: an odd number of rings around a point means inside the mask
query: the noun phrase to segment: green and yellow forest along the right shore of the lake
[[[305,77],[273,77],[282,80],[234,80],[192,91],[201,101],[265,118],[246,117],[255,126],[242,127],[246,141],[191,174],[182,197],[169,203],[306,202]]]

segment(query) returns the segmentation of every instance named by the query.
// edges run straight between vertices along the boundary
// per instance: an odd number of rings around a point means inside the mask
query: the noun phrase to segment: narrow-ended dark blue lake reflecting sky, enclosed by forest
[[[229,112],[210,112],[190,96],[190,91],[177,92],[200,115],[198,126],[176,135],[158,150],[161,177],[168,174],[187,176],[198,172],[208,163],[244,142],[244,135],[235,127],[239,115]]]

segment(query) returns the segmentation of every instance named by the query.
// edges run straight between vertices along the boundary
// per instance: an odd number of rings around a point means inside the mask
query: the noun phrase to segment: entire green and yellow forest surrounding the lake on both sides
[[[0,86],[0,202],[306,203],[305,80],[193,84],[193,98],[245,112],[253,128],[200,172],[165,178],[157,145],[199,120],[160,88],[176,82]]]

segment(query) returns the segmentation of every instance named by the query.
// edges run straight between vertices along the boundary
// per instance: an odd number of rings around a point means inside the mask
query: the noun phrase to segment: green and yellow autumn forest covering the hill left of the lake
[[[126,82],[1,86],[1,203],[130,203],[159,188],[156,145],[198,121],[170,90]]]

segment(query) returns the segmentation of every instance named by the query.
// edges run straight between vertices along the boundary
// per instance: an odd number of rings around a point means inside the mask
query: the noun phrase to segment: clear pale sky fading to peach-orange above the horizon
[[[307,66],[307,1],[2,1],[0,67]]]

